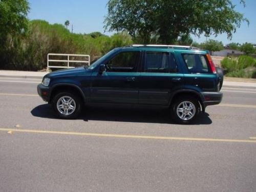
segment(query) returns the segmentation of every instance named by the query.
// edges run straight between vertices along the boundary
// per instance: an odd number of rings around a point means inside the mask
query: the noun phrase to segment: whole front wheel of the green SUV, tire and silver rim
[[[61,92],[54,96],[52,107],[62,119],[75,119],[81,112],[81,99],[70,92]]]

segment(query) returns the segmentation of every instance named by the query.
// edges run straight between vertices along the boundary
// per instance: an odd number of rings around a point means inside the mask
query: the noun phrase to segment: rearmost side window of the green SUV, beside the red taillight
[[[209,73],[207,58],[200,54],[183,54],[183,59],[190,73]]]

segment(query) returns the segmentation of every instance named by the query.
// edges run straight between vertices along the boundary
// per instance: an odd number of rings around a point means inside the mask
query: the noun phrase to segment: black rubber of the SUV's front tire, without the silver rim
[[[60,98],[63,97],[70,97],[74,100],[75,104],[74,104],[74,111],[71,114],[63,114],[58,110],[57,104]],[[81,112],[81,107],[82,107],[82,102],[81,102],[81,98],[75,94],[72,94],[70,92],[61,92],[61,93],[57,93],[53,100],[52,100],[52,107],[54,109],[54,111],[56,112],[57,116],[59,118],[62,119],[75,119]]]

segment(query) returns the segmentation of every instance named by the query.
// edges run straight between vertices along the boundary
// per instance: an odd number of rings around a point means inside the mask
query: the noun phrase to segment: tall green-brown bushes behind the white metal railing
[[[75,34],[44,20],[30,21],[26,35],[9,38],[12,45],[3,45],[0,50],[0,69],[37,71],[47,67],[48,53],[89,54],[93,60],[111,49],[133,44],[125,32],[111,37],[97,32]]]

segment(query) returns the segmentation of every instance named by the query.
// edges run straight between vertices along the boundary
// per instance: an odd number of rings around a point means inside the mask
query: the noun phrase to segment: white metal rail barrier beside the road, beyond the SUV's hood
[[[67,56],[67,60],[60,60],[60,59],[49,59],[50,55],[55,56]],[[70,56],[76,56],[76,57],[86,57],[88,60],[70,60]],[[49,62],[67,62],[67,66],[49,66]],[[77,54],[59,54],[59,53],[48,53],[47,54],[47,72],[49,72],[49,68],[75,68],[69,66],[69,64],[73,62],[82,62],[82,63],[88,63],[88,66],[90,66],[90,55],[77,55]]]

